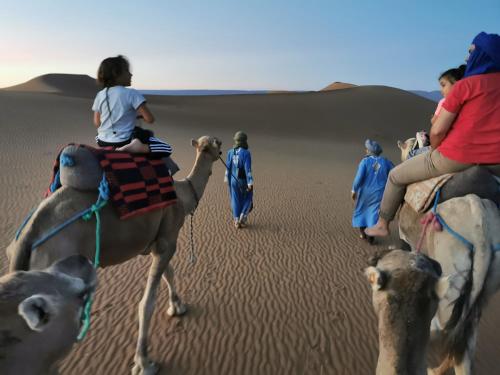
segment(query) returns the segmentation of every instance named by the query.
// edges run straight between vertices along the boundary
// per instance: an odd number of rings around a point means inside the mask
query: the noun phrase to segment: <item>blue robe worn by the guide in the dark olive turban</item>
[[[247,191],[248,185],[253,185],[252,156],[250,151],[242,147],[233,148],[227,152],[226,179],[231,196],[233,218],[248,215],[252,209],[253,191]]]

